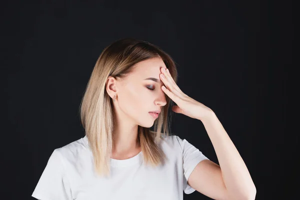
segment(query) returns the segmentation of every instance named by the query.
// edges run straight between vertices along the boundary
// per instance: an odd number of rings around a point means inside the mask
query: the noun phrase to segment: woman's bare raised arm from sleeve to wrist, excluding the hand
[[[254,199],[256,188],[249,171],[214,112],[201,121],[220,165],[202,160],[190,174],[188,184],[215,199]]]

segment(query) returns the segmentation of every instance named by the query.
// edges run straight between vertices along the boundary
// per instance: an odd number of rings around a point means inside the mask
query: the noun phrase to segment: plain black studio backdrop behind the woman
[[[256,199],[291,199],[291,13],[287,1],[6,2],[4,199],[33,199],[53,149],[84,136],[78,109],[88,78],[103,48],[122,37],[150,41],[173,57],[178,86],[216,113],[247,165]],[[201,121],[174,113],[171,130],[218,163]],[[195,191],[184,199],[210,198]]]

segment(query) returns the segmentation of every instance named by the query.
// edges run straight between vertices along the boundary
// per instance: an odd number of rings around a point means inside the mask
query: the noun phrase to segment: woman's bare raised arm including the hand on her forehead
[[[212,161],[200,161],[189,175],[188,184],[218,199],[254,199],[256,188],[247,167],[214,112],[183,93],[168,69],[164,69],[161,67],[159,74],[165,84],[161,89],[177,104],[172,110],[202,121],[220,163],[218,166]]]

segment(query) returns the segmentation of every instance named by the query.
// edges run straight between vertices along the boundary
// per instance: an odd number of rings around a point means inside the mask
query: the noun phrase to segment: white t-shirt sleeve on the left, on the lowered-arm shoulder
[[[60,152],[54,149],[31,194],[32,197],[39,200],[73,199],[62,161]]]

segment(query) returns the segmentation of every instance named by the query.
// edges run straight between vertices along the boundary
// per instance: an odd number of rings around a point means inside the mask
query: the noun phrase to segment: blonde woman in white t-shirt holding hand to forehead
[[[80,104],[85,136],[54,149],[32,196],[176,200],[197,190],[214,199],[254,199],[249,172],[217,117],[184,94],[176,77],[172,58],[149,42],[107,46]],[[220,165],[169,133],[170,100],[174,112],[203,122]]]

